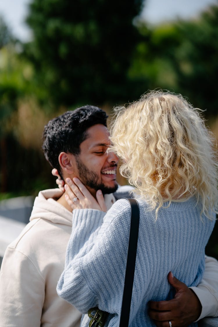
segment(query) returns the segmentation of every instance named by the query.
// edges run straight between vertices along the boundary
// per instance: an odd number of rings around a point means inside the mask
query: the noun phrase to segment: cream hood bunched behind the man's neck
[[[72,213],[56,201],[62,194],[59,188],[40,191],[29,220],[42,218],[55,224],[72,226]]]

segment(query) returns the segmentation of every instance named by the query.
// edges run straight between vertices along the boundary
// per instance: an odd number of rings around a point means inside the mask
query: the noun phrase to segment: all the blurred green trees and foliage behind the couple
[[[0,199],[55,187],[47,121],[84,104],[109,114],[148,89],[181,93],[218,137],[218,2],[195,19],[149,25],[142,0],[32,0],[21,42],[0,18]],[[125,183],[121,178],[120,183]],[[207,254],[218,258],[217,224]]]

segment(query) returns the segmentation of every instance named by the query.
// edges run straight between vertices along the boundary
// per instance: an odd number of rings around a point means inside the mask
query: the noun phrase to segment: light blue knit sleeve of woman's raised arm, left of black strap
[[[118,200],[104,213],[76,210],[65,269],[57,292],[79,311],[98,306],[119,313],[123,295],[131,209]]]

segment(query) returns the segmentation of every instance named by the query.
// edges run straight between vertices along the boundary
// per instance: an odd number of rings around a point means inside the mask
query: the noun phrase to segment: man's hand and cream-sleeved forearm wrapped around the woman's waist
[[[188,288],[170,273],[169,283],[175,287],[175,298],[170,301],[150,301],[149,316],[159,327],[187,326],[204,317],[218,316],[218,262],[205,257],[205,272],[197,287]]]

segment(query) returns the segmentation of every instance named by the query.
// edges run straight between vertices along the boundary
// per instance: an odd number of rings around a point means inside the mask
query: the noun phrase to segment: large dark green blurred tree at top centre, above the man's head
[[[126,100],[143,0],[33,0],[25,54],[56,105]]]

